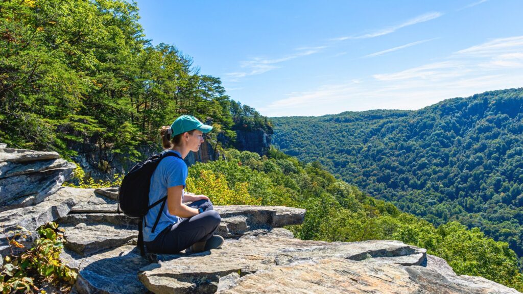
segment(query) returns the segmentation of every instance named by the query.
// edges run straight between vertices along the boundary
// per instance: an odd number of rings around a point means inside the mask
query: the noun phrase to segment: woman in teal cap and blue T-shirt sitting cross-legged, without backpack
[[[182,160],[190,151],[198,151],[203,133],[212,129],[194,116],[178,117],[170,127],[162,127],[162,145],[166,151],[178,156],[165,157],[151,177],[149,205],[167,195],[167,203],[152,207],[145,216],[143,240],[149,252],[173,254],[186,248],[186,252],[202,252],[219,248],[223,238],[212,232],[220,224],[220,214],[213,210],[207,196],[185,194],[187,165]],[[184,202],[192,202],[185,205]],[[158,213],[160,221],[152,232]]]

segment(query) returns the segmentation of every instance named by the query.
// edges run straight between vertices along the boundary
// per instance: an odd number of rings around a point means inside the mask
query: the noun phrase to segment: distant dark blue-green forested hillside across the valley
[[[523,255],[523,88],[417,111],[274,118],[274,142],[399,209],[479,227]]]

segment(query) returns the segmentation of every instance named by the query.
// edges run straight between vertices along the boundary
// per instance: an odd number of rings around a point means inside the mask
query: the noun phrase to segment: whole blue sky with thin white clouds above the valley
[[[523,87],[523,1],[138,1],[153,44],[261,115],[419,109]]]

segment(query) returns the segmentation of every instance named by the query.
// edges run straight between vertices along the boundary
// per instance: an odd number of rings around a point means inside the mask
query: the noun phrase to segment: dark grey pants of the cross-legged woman
[[[194,217],[182,219],[180,222],[167,227],[156,236],[153,241],[144,242],[147,251],[161,254],[175,254],[192,244],[207,241],[212,232],[220,225],[221,217],[213,210],[210,200],[198,200],[188,205],[192,208],[201,208],[203,212]]]

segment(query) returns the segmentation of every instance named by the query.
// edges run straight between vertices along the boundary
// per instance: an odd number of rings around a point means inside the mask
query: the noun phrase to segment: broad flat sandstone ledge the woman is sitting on
[[[0,206],[0,220],[29,230],[59,222],[67,241],[61,257],[78,271],[75,293],[519,293],[458,276],[443,259],[399,241],[296,239],[282,227],[301,223],[305,210],[287,207],[217,206],[221,249],[142,257],[137,221],[117,213],[117,195],[117,188],[61,188],[26,207]]]

